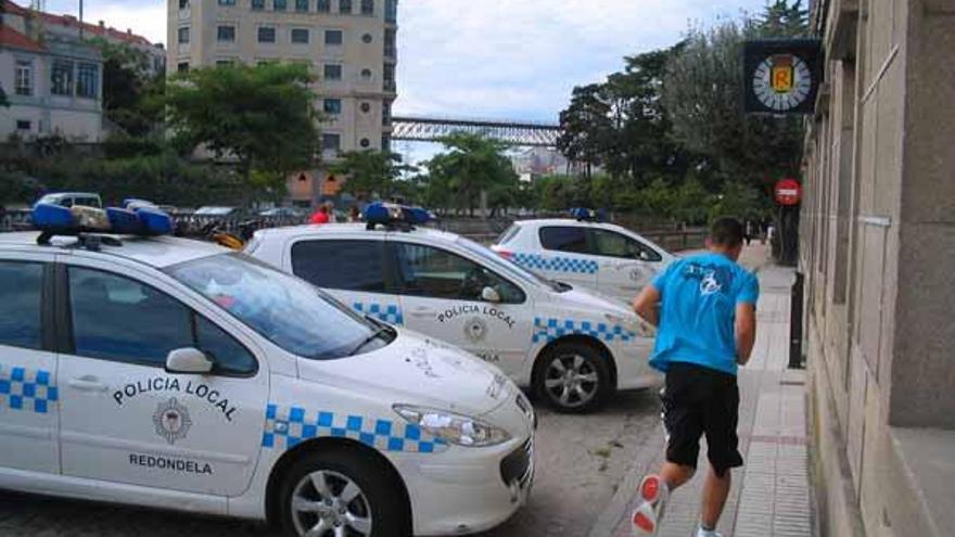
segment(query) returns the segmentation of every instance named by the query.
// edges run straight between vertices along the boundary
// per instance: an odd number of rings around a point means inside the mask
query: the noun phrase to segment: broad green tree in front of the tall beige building
[[[212,151],[275,186],[309,167],[319,148],[314,80],[300,64],[228,65],[177,75],[166,90],[169,126],[179,146]]]

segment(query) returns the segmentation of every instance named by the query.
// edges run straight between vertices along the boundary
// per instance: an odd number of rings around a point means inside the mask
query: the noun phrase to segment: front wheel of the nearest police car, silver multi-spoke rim
[[[411,514],[394,473],[382,461],[357,450],[332,448],[308,453],[284,472],[277,506],[282,534],[408,537]],[[322,490],[322,488],[324,490]],[[336,525],[338,524],[338,525]],[[347,530],[351,529],[351,530]]]

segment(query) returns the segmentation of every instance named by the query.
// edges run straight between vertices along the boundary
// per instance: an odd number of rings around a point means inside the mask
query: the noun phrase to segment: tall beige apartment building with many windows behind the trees
[[[397,97],[397,0],[169,0],[169,72],[242,62],[302,62],[318,77],[323,161],[390,149]],[[297,174],[297,205],[338,192],[321,169]]]

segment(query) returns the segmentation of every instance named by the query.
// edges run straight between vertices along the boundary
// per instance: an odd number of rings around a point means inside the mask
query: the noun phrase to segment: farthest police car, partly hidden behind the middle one
[[[573,209],[574,218],[517,221],[492,248],[535,272],[629,304],[674,256],[599,213]]]

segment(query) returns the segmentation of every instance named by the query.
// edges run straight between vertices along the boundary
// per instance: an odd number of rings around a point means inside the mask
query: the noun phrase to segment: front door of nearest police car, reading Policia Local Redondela
[[[242,494],[268,399],[268,366],[244,327],[171,280],[98,260],[59,266],[56,301],[63,474]],[[167,355],[188,347],[214,372],[167,372]]]

